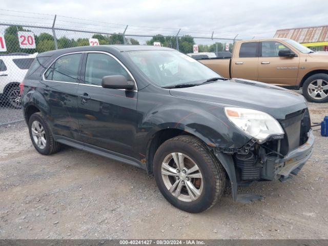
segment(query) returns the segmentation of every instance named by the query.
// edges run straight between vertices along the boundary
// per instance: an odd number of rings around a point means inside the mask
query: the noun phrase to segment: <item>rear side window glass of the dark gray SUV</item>
[[[82,54],[59,57],[45,73],[45,78],[54,81],[77,83],[77,73]]]

